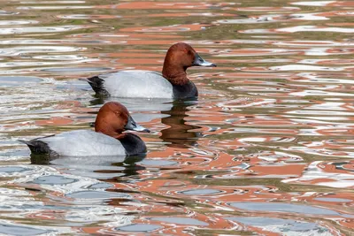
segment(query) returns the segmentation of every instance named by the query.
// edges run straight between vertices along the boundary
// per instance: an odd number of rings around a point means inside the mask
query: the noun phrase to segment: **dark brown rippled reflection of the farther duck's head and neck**
[[[168,147],[187,148],[187,146],[196,145],[196,141],[201,136],[201,133],[193,130],[201,127],[186,124],[185,120],[185,118],[189,117],[186,114],[190,110],[189,106],[194,103],[196,101],[178,101],[173,103],[171,110],[161,111],[162,114],[169,115],[169,117],[161,119],[161,122],[169,127],[163,129],[160,135],[160,139],[170,143],[167,144]]]

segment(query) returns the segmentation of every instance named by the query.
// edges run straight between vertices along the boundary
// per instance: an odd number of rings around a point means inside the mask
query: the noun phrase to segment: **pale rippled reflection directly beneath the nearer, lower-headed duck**
[[[64,173],[106,180],[137,175],[145,168],[136,163],[145,156],[60,156],[50,159],[32,154],[31,164],[50,164]]]

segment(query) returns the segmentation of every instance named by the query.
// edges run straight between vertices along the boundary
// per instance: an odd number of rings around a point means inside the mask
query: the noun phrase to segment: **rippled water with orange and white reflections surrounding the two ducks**
[[[0,233],[352,235],[352,1],[1,1]],[[147,156],[57,160],[18,139],[89,128],[79,78],[161,71],[188,42],[197,101],[124,103]],[[275,234],[274,234],[275,233]]]

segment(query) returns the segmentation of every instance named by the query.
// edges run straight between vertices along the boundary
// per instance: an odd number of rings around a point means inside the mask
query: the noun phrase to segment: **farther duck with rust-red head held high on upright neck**
[[[198,96],[196,85],[187,77],[191,66],[215,67],[204,60],[188,43],[173,44],[166,52],[162,73],[127,70],[108,72],[87,81],[98,96],[126,98],[185,99]]]

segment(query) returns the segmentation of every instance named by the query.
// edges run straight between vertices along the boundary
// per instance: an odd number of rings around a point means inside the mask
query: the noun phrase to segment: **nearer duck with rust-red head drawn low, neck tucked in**
[[[30,141],[32,154],[59,156],[135,156],[147,151],[145,143],[134,133],[126,130],[150,133],[130,116],[127,108],[118,102],[105,103],[98,110],[95,131],[75,130],[54,134]]]

